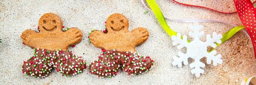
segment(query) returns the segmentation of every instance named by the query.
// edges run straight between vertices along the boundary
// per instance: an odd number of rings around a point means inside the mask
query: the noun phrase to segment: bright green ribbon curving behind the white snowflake
[[[146,0],[146,1],[147,1],[148,5],[150,6],[151,10],[154,12],[155,16],[157,17],[158,22],[163,27],[163,29],[166,31],[166,33],[170,37],[172,37],[173,35],[177,36],[177,33],[175,31],[173,31],[166,23],[166,20],[163,17],[163,13],[161,12],[160,8],[157,6],[157,3],[154,0]],[[227,41],[228,39],[230,39],[234,34],[236,34],[236,32],[240,31],[243,28],[244,28],[244,26],[237,26],[237,27],[230,29],[226,33],[224,33],[223,37],[221,39],[221,44],[224,43],[225,41]],[[182,36],[181,36],[181,38],[182,38]],[[190,41],[188,40],[188,42],[190,42]],[[220,45],[218,43],[215,43],[215,44],[217,45],[217,47]],[[212,48],[211,51],[213,51],[214,49],[215,48]]]

